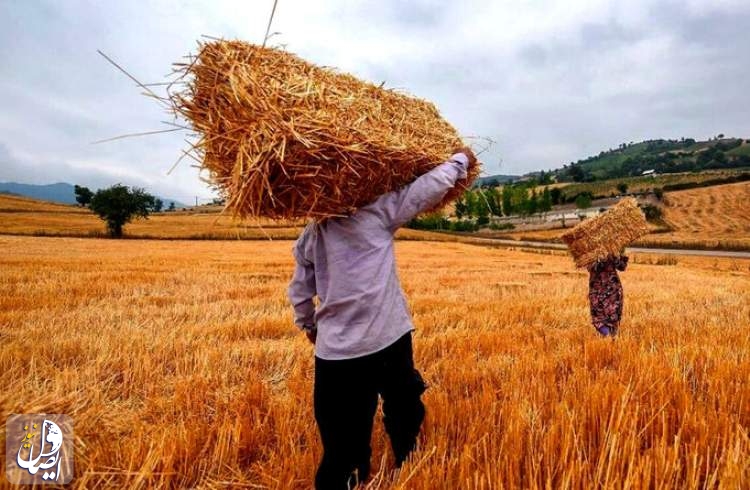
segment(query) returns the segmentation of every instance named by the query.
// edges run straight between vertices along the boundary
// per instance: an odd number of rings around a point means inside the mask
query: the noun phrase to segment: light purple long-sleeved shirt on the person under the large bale
[[[296,268],[288,294],[294,322],[317,325],[316,356],[364,356],[414,329],[396,273],[393,234],[438,204],[466,178],[467,166],[466,155],[457,153],[351,216],[307,225],[292,249]]]

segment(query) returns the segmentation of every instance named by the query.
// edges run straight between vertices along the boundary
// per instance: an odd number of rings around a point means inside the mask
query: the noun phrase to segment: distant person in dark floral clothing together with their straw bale
[[[589,271],[591,322],[603,337],[620,328],[623,290],[617,271],[624,271],[625,246],[648,233],[648,223],[635,199],[618,202],[607,212],[563,234],[578,267]]]

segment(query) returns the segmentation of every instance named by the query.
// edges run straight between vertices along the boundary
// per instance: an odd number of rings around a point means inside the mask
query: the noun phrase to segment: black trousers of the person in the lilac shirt
[[[370,473],[370,438],[378,395],[396,465],[409,456],[424,420],[426,385],[414,369],[411,333],[385,349],[355,359],[315,358],[315,420],[323,459],[318,490],[354,488]]]

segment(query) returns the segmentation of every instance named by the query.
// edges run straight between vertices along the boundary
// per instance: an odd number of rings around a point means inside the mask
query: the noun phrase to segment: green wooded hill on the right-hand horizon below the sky
[[[750,141],[722,134],[708,141],[683,138],[623,143],[552,173],[561,182],[592,182],[634,177],[652,170],[677,173],[739,167],[750,167]]]

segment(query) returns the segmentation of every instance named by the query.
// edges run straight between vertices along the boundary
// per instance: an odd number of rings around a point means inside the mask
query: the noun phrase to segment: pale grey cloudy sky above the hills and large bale
[[[0,181],[211,195],[185,134],[97,54],[160,82],[202,35],[262,42],[272,0],[0,0]],[[750,137],[750,2],[278,0],[273,44],[427,98],[488,174],[626,141]],[[480,147],[481,143],[477,143]]]

